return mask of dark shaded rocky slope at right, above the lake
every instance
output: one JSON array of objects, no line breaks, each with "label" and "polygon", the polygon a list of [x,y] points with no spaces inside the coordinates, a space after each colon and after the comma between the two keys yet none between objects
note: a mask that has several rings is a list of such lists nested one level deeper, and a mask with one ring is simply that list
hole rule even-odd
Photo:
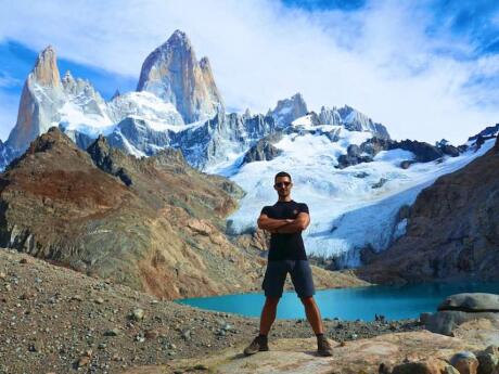
[{"label": "dark shaded rocky slope at right, above the lake", "polygon": [[359,274],[374,282],[477,276],[497,280],[499,140],[464,168],[423,190],[407,233]]}]

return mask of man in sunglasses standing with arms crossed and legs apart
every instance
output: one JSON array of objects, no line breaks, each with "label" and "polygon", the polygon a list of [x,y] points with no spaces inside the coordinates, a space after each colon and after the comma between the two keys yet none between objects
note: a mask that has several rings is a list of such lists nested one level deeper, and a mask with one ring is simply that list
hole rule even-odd
[{"label": "man in sunglasses standing with arms crossed and legs apart", "polygon": [[317,336],[318,354],[332,354],[332,347],[324,336],[319,308],[314,300],[314,280],[302,238],[302,231],[310,223],[308,207],[291,198],[292,186],[291,176],[285,171],[278,172],[273,188],[279,199],[274,205],[264,207],[258,218],[258,228],[271,233],[263,283],[266,301],[261,310],[259,335],[244,349],[246,356],[269,350],[267,335],[276,320],[287,273],[291,274],[295,291],[305,307],[307,320]]}]

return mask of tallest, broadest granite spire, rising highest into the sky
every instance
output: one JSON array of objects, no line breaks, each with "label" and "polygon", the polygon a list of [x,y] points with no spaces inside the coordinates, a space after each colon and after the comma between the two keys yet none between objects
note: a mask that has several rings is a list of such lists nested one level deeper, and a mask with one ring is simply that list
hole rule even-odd
[{"label": "tallest, broadest granite spire, rising highest into the sky", "polygon": [[185,124],[213,118],[223,109],[208,59],[197,62],[191,41],[180,30],[145,59],[137,91],[172,103]]}]

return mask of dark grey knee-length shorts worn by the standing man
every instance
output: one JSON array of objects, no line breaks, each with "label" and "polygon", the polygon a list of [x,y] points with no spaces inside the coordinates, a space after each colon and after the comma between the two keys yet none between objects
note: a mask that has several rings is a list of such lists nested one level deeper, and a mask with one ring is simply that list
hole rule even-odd
[{"label": "dark grey knee-length shorts worn by the standing man", "polygon": [[308,260],[269,261],[261,288],[265,296],[281,297],[287,273],[298,297],[310,297],[316,293]]}]

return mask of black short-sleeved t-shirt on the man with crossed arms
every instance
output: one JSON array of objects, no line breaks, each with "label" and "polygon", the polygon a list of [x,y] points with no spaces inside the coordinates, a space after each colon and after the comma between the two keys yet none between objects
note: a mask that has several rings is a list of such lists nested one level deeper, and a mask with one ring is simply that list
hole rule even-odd
[{"label": "black short-sleeved t-shirt on the man with crossed arms", "polygon": [[[291,202],[277,202],[272,206],[265,206],[263,215],[274,219],[295,219],[299,212],[308,214],[307,204]],[[292,234],[271,234],[269,261],[279,260],[306,260],[302,232]]]}]

